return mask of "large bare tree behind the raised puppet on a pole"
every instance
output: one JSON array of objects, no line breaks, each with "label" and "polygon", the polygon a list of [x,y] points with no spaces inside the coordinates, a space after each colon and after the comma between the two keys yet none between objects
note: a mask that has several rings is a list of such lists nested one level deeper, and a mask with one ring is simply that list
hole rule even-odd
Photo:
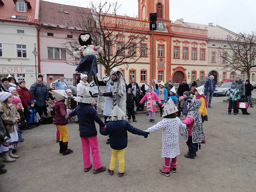
[{"label": "large bare tree behind the raised puppet on a pole", "polygon": [[[81,30],[72,30],[71,34],[77,37],[81,32],[90,33],[92,44],[100,45],[103,51],[97,56],[98,64],[102,64],[109,75],[112,68],[124,65],[126,69],[129,64],[144,61],[150,54],[148,30],[149,24],[144,21],[136,21],[124,16],[116,15],[120,5],[116,3],[93,4],[91,11],[86,14],[83,9],[78,8],[77,14],[80,15],[79,24]],[[109,13],[112,11],[111,13]],[[80,44],[76,40],[66,39],[62,44],[67,49],[69,58],[73,57]],[[77,65],[79,61],[68,63]]]}]

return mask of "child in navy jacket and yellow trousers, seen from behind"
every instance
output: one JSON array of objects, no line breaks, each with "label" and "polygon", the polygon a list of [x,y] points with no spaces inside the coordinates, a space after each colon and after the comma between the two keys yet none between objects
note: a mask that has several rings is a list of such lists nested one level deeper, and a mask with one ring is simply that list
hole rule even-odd
[{"label": "child in navy jacket and yellow trousers, seen from behind", "polygon": [[147,138],[149,134],[148,132],[133,127],[124,120],[125,118],[127,118],[126,114],[124,114],[124,112],[118,106],[116,106],[111,112],[111,116],[108,116],[107,121],[109,122],[107,127],[104,127],[105,129],[100,127],[100,134],[106,136],[109,135],[109,144],[112,152],[108,174],[114,174],[114,170],[116,168],[116,157],[118,156],[119,177],[124,176],[124,153],[128,143],[127,131],[133,134],[143,135],[145,138]]}]

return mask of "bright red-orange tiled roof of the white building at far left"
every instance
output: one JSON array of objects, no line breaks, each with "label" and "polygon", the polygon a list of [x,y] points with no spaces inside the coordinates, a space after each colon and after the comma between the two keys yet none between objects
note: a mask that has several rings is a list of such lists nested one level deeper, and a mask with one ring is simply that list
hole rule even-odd
[{"label": "bright red-orange tiled roof of the white building at far left", "polygon": [[[17,12],[16,11],[16,5],[13,2],[13,0],[2,0],[4,5],[0,6],[0,20],[10,20],[10,21],[17,21],[17,22],[26,22],[26,23],[35,23],[37,20],[35,20],[35,13],[36,13],[36,1],[39,2],[39,0],[26,0],[26,2],[29,2],[29,5],[31,6],[31,9],[28,9],[27,12]],[[28,5],[28,7],[29,7]],[[18,15],[18,16],[25,16],[27,19],[14,19],[11,18],[12,15]]]}]

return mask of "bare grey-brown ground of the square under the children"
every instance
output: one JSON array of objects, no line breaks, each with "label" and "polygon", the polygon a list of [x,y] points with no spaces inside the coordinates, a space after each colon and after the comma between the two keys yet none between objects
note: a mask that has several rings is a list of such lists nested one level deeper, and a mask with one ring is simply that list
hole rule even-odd
[{"label": "bare grey-brown ground of the square under the children", "polygon": [[[7,173],[0,175],[0,191],[255,191],[256,108],[249,108],[249,116],[241,111],[234,116],[227,115],[228,103],[218,102],[212,107],[208,108],[209,122],[204,123],[206,143],[196,159],[187,159],[186,143],[179,137],[177,172],[169,177],[158,173],[164,163],[161,131],[147,139],[128,133],[125,174],[119,178],[118,169],[113,176],[83,171],[78,124],[68,124],[68,147],[74,153],[60,155],[56,127],[50,124],[23,132],[25,141],[17,152],[20,158],[5,163]],[[136,119],[138,122],[132,125],[139,129],[153,125],[145,114],[137,114]],[[157,114],[156,123],[161,119]],[[98,140],[102,164],[108,167],[111,150],[106,145],[107,137],[99,133]]]}]

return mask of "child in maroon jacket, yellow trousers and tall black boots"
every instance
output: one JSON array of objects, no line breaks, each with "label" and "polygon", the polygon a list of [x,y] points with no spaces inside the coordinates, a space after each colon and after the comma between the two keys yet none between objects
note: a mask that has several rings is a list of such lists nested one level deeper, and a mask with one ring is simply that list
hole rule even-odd
[{"label": "child in maroon jacket, yellow trousers and tall black boots", "polygon": [[64,90],[52,90],[57,102],[55,104],[54,124],[60,131],[60,153],[68,155],[73,153],[73,150],[68,149],[68,115],[65,104],[67,94]]}]

